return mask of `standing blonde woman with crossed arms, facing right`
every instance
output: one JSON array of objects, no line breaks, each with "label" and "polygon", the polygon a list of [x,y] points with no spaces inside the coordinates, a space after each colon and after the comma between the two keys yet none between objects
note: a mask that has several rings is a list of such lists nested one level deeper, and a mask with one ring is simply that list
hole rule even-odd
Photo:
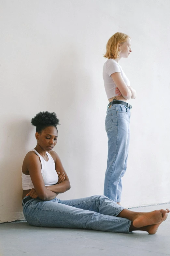
[{"label": "standing blonde woman with crossed arms, facing right", "polygon": [[103,67],[103,79],[109,101],[106,115],[106,132],[108,137],[108,158],[105,174],[104,195],[120,204],[122,177],[127,168],[130,140],[129,99],[135,99],[136,91],[123,72],[119,61],[128,58],[131,39],[128,35],[117,32],[107,42]]}]

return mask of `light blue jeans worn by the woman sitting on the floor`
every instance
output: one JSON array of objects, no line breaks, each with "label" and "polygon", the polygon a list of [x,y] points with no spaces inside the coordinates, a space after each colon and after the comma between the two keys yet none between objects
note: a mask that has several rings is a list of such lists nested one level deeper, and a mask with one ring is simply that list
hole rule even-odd
[{"label": "light blue jeans worn by the woman sitting on the floor", "polygon": [[24,217],[33,226],[129,233],[131,221],[116,217],[123,209],[106,196],[50,201],[32,198],[23,205]]}]

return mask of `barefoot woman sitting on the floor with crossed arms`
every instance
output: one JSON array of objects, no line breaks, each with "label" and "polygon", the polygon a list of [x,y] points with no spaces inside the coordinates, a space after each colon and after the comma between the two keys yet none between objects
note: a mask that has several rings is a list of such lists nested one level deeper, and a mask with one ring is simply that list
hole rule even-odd
[{"label": "barefoot woman sitting on the floor with crossed arms", "polygon": [[31,121],[36,126],[37,145],[22,165],[22,205],[26,221],[38,227],[82,228],[155,234],[169,210],[133,212],[106,196],[60,200],[70,189],[68,176],[53,147],[57,143],[59,120],[55,113],[39,112]]}]

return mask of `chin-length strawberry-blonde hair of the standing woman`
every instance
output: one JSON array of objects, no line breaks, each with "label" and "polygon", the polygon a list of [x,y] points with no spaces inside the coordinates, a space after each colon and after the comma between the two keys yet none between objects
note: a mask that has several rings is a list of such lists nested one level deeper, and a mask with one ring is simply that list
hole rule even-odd
[{"label": "chin-length strawberry-blonde hair of the standing woman", "polygon": [[119,44],[125,43],[127,39],[130,38],[128,35],[117,32],[108,40],[106,44],[106,54],[104,55],[105,58],[108,59],[117,59],[119,58]]}]

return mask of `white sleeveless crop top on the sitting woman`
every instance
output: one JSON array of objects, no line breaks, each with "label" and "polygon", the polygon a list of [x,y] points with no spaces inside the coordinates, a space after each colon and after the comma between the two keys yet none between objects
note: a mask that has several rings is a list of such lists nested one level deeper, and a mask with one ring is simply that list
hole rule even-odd
[{"label": "white sleeveless crop top on the sitting woman", "polygon": [[[45,161],[44,158],[35,150],[32,149],[40,158],[41,161],[41,173],[44,179],[45,186],[54,185],[58,181],[58,174],[55,170],[55,162],[51,155],[47,152],[49,158],[48,161]],[[32,183],[30,175],[26,175],[22,172],[22,189],[32,189],[34,185]]]}]

